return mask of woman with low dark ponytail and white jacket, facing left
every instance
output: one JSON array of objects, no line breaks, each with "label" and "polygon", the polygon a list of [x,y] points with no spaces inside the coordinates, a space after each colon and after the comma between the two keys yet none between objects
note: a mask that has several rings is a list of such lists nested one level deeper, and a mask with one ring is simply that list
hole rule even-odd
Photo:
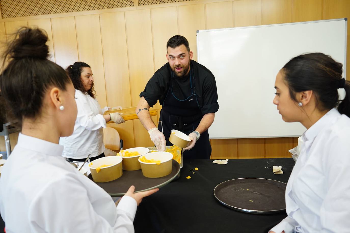
[{"label": "woman with low dark ponytail and white jacket, facing left", "polygon": [[[276,76],[273,103],[307,129],[286,188],[288,217],[270,231],[349,232],[350,83],[323,53],[291,59]],[[345,90],[339,100],[338,89]]]}]

